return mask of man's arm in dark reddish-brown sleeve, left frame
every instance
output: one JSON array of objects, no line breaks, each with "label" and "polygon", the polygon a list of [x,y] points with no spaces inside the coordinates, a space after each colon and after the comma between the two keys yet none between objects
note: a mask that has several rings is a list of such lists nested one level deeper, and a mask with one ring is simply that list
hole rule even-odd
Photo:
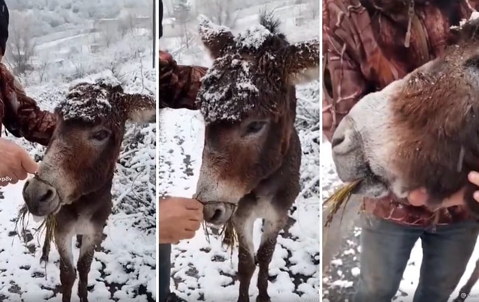
[{"label": "man's arm in dark reddish-brown sleeve, left frame", "polygon": [[16,137],[47,146],[56,124],[53,113],[40,110],[36,101],[25,95],[21,84],[3,64],[0,64],[0,79],[5,128]]}]

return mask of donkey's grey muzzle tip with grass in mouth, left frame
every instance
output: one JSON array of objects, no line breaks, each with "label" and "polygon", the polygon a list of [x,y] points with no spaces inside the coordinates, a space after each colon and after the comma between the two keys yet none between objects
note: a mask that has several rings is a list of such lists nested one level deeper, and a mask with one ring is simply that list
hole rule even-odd
[{"label": "donkey's grey muzzle tip with grass in mouth, left frame", "polygon": [[47,216],[60,206],[57,190],[37,177],[25,182],[22,194],[29,212],[34,216]]}]

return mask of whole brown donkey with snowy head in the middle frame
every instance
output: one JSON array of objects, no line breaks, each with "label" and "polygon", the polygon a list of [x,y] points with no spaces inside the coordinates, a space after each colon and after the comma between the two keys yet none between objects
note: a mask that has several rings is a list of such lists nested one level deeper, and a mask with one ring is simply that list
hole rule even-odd
[{"label": "whole brown donkey with snowy head in the middle frame", "polygon": [[[271,14],[261,14],[260,23],[237,36],[205,16],[199,24],[214,60],[196,99],[205,142],[195,197],[204,204],[207,223],[223,225],[232,218],[239,242],[239,302],[249,301],[255,263],[256,301],[270,301],[268,266],[300,189],[294,86],[320,75],[318,40],[290,44]],[[263,235],[255,257],[257,218],[263,218]]]}]

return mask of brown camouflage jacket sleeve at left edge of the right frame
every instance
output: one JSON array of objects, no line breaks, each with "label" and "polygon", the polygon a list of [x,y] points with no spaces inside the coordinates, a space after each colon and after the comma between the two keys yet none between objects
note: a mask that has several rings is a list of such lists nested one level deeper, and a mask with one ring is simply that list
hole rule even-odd
[{"label": "brown camouflage jacket sleeve at left edge of the right frame", "polygon": [[322,129],[330,141],[341,118],[367,93],[367,83],[361,68],[352,58],[354,51],[360,51],[361,47],[358,45],[358,32],[354,30],[354,22],[348,19],[348,8],[342,8],[335,2],[337,1],[323,1],[322,28]]}]

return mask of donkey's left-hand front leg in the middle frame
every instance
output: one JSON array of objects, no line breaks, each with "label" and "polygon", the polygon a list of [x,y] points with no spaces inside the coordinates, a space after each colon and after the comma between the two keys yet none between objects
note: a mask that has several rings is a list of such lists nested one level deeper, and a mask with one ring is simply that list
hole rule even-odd
[{"label": "donkey's left-hand front leg in the middle frame", "polygon": [[253,223],[250,217],[235,215],[233,224],[238,238],[238,279],[239,297],[238,302],[249,302],[249,288],[251,277],[255,273],[255,248],[253,246]]}]

